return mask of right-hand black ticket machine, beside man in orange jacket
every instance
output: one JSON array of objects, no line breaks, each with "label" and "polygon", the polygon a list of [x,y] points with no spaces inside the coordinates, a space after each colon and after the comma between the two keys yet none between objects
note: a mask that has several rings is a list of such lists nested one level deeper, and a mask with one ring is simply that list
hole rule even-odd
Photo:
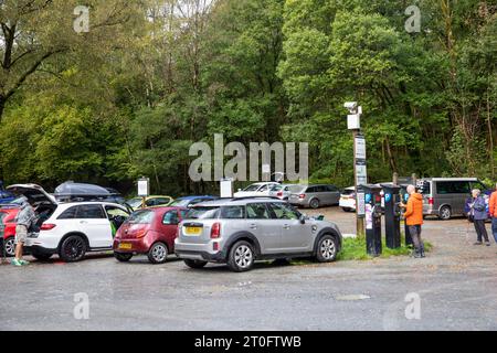
[{"label": "right-hand black ticket machine, beside man in orange jacket", "polygon": [[400,190],[399,185],[381,184],[384,195],[384,234],[387,239],[387,247],[391,249],[399,248],[401,246],[400,236]]}]

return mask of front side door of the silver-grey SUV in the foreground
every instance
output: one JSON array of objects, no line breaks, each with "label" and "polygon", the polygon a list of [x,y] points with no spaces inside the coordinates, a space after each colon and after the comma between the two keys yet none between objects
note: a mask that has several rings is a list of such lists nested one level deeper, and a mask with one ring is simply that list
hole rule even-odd
[{"label": "front side door of the silver-grey SUV in the foreground", "polygon": [[273,202],[269,207],[273,221],[282,234],[278,253],[304,253],[310,249],[310,224],[302,224],[300,213],[282,202]]}]

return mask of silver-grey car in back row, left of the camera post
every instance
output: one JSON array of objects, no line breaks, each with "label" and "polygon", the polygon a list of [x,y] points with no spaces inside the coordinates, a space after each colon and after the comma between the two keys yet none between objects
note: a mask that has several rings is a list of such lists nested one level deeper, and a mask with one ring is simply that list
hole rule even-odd
[{"label": "silver-grey car in back row, left of the camera post", "polygon": [[340,191],[335,185],[313,184],[292,186],[288,202],[299,207],[318,208],[325,205],[337,205]]}]

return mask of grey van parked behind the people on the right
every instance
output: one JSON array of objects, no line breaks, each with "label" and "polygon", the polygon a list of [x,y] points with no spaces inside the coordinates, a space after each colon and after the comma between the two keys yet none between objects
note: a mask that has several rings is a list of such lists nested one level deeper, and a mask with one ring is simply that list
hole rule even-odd
[{"label": "grey van parked behind the people on the right", "polygon": [[417,181],[423,195],[423,214],[450,220],[454,215],[465,215],[466,200],[473,189],[488,195],[491,190],[477,178],[426,178]]}]

